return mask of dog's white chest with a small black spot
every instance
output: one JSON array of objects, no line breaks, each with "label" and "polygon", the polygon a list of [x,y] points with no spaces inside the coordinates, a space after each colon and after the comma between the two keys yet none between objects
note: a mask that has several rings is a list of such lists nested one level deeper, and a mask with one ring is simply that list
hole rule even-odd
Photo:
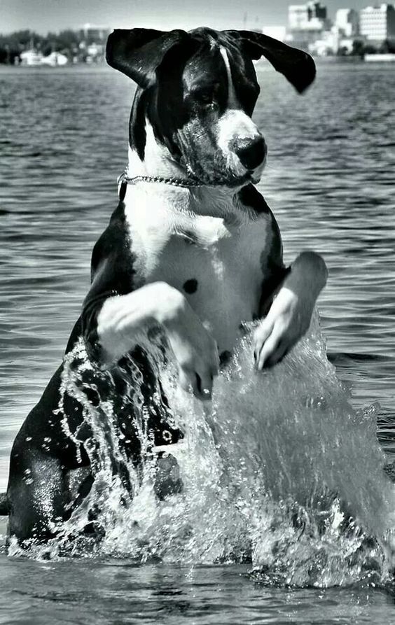
[{"label": "dog's white chest with a small black spot", "polygon": [[241,321],[258,313],[265,219],[226,225],[221,218],[184,217],[132,223],[131,234],[141,278],[180,290],[220,351],[233,349]]}]

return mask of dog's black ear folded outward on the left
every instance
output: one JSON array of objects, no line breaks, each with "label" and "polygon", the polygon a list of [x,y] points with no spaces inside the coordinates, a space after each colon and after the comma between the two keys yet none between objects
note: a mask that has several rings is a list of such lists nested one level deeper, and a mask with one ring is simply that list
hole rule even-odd
[{"label": "dog's black ear folded outward on the left", "polygon": [[107,39],[106,61],[140,87],[148,87],[166,52],[186,36],[183,30],[116,29]]}]

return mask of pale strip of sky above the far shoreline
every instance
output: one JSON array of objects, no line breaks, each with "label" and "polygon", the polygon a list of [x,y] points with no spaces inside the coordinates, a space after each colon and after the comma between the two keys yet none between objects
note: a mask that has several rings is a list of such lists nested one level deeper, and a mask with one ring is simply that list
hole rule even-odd
[{"label": "pale strip of sky above the far shoreline", "polygon": [[[85,23],[109,28],[161,30],[198,26],[263,28],[286,25],[289,4],[303,0],[0,0],[0,33],[31,29],[41,34]],[[363,8],[371,0],[328,0],[329,17],[338,8]],[[377,2],[376,2],[377,3]]]}]

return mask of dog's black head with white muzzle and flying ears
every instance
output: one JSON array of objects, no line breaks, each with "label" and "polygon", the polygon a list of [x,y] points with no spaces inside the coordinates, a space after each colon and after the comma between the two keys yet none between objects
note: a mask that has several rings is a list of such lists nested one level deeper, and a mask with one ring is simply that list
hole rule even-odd
[{"label": "dog's black head with white muzzle and flying ears", "polygon": [[259,94],[252,61],[261,56],[298,92],[314,80],[310,55],[255,32],[113,31],[107,62],[139,85],[130,144],[140,160],[148,123],[169,157],[203,183],[258,181],[266,146],[251,120]]}]

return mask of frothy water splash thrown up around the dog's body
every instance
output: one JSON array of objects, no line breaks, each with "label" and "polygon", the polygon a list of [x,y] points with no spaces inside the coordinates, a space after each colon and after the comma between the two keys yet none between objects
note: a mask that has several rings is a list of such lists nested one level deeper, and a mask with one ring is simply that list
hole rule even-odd
[{"label": "frothy water splash thrown up around the dog's body", "polygon": [[[58,526],[57,538],[32,547],[35,557],[118,555],[190,566],[251,559],[255,579],[298,586],[387,579],[395,491],[384,475],[377,410],[354,412],[349,405],[317,318],[289,356],[265,372],[254,371],[247,332],[207,404],[179,389],[171,363],[162,367],[174,423],[184,433],[166,447],[183,491],[162,501],[155,496],[153,437],[138,367],[129,392],[144,457],[139,468],[120,448],[111,402],[92,405],[79,384],[89,367],[79,343],[67,357],[63,384],[92,428],[85,449],[95,482]],[[111,386],[111,375],[103,376]],[[78,433],[70,435],[78,442]],[[101,540],[85,534],[92,510]]]}]

